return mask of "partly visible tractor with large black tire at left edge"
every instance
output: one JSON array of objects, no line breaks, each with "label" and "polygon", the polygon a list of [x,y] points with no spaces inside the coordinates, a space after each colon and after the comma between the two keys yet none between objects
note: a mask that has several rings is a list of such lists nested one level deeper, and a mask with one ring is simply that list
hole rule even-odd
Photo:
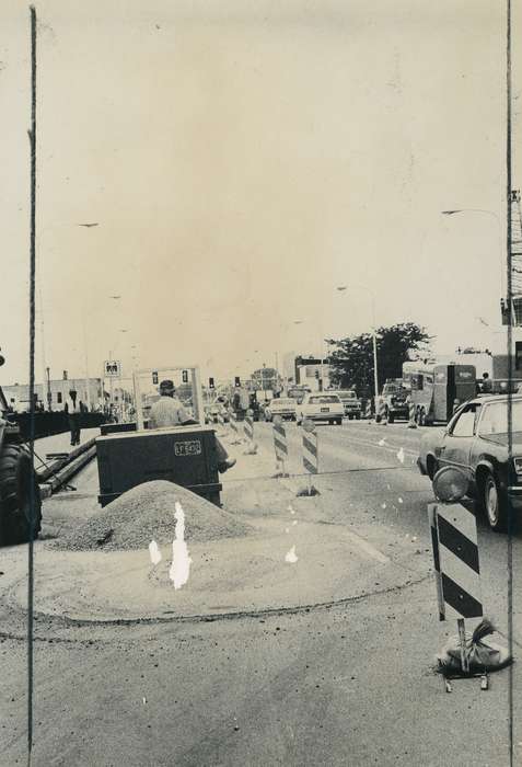
[{"label": "partly visible tractor with large black tire at left edge", "polygon": [[10,415],[0,387],[0,546],[36,538],[42,528],[38,480],[20,428]]}]

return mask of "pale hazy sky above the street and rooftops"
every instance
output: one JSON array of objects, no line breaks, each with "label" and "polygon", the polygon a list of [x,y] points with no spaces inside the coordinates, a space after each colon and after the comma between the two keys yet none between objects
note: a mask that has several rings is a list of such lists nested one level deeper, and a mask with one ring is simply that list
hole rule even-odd
[{"label": "pale hazy sky above the street and rooftops", "polygon": [[[98,376],[111,356],[246,375],[369,331],[373,309],[376,325],[425,325],[440,353],[488,345],[506,262],[502,2],[36,11],[37,379]],[[8,384],[28,378],[28,7],[3,0],[0,21]],[[520,186],[519,169],[515,152]]]}]

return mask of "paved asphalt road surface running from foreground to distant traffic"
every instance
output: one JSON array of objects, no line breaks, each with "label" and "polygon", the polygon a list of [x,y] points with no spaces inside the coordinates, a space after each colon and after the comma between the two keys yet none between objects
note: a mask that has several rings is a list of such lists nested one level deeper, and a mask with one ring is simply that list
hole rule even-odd
[{"label": "paved asphalt road surface running from foreground to distant traffic", "polygon": [[[437,618],[427,525],[433,496],[415,466],[419,435],[404,424],[318,427],[321,495],[295,501],[295,508],[309,523],[349,527],[368,556],[371,582],[362,596],[302,610],[129,626],[37,616],[33,765],[503,766],[511,714],[520,764],[517,665],[492,676],[488,691],[461,680],[451,695],[432,672],[433,655],[455,627]],[[289,424],[288,437],[287,469],[295,476],[279,481],[272,505],[277,493],[293,497],[305,484],[301,431]],[[258,455],[242,457],[224,481],[225,504],[243,504],[247,513],[274,471],[268,424],[256,424],[256,439]],[[234,449],[241,455],[241,446]],[[94,468],[76,484],[89,501]],[[55,504],[62,519],[80,505],[83,514],[89,508],[78,500]],[[507,539],[479,522],[479,549],[485,610],[506,632]],[[379,564],[382,580],[371,569],[378,554],[390,562]],[[518,534],[515,655],[520,557]],[[383,589],[392,564],[408,579]],[[305,584],[306,562],[294,566],[301,565]],[[350,562],[337,566],[341,572]],[[0,764],[11,766],[26,753],[23,610],[3,606],[1,623]]]}]

